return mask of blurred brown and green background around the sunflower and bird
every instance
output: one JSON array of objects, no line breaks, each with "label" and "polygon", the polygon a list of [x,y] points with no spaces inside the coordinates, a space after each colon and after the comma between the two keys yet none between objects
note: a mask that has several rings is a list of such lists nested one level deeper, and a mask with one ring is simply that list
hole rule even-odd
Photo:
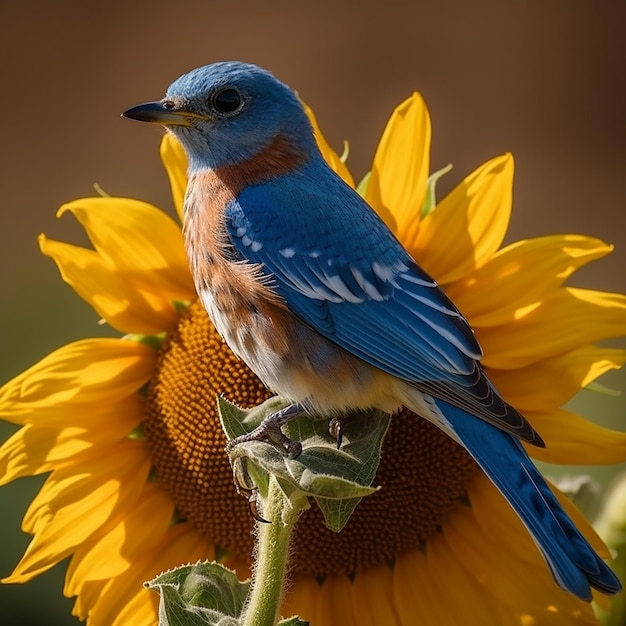
[{"label": "blurred brown and green background around the sunflower and bird", "polygon": [[[106,333],[42,257],[37,234],[86,243],[55,211],[94,183],[170,208],[161,131],[120,118],[181,73],[239,59],[271,69],[314,107],[331,143],[368,169],[392,108],[413,90],[433,119],[443,189],[504,151],[516,159],[508,241],[586,233],[615,252],[573,281],[626,291],[626,11],[623,2],[20,2],[3,7],[0,381],[66,343]],[[626,375],[604,379],[626,387]],[[624,400],[576,408],[619,421]],[[622,422],[623,424],[623,422]],[[11,428],[0,430],[6,436]],[[40,480],[0,490],[0,575]],[[0,588],[2,623],[72,624],[62,568]],[[5,621],[8,619],[8,621]]]}]

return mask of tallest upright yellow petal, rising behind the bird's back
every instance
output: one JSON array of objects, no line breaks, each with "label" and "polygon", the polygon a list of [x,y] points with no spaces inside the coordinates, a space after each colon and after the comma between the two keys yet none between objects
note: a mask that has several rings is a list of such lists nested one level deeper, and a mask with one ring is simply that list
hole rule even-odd
[{"label": "tallest upright yellow petal, rising behind the bird's back", "polygon": [[396,107],[374,155],[365,199],[407,246],[417,233],[430,167],[430,115],[414,93]]}]

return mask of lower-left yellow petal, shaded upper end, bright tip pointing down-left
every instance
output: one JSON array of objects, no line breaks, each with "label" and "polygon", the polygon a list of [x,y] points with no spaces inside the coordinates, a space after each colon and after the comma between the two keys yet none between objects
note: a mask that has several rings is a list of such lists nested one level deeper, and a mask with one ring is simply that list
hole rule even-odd
[{"label": "lower-left yellow petal, shaded upper end, bright tip pointing down-left", "polygon": [[170,528],[174,501],[148,483],[135,506],[93,543],[78,546],[67,569],[64,593],[80,593],[87,581],[119,576],[146,554],[154,554]]}]

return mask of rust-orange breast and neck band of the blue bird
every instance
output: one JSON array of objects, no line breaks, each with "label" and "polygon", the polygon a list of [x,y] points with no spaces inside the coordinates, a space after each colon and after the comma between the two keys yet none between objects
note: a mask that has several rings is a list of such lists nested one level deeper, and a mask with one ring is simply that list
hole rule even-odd
[{"label": "rust-orange breast and neck band of the blue bird", "polygon": [[[248,328],[234,333],[241,341],[271,341],[280,352],[288,348],[291,315],[254,263],[235,260],[225,223],[225,211],[247,186],[286,174],[306,156],[284,137],[254,158],[236,165],[194,174],[185,198],[184,235],[196,289],[218,330]],[[219,318],[219,319],[216,319]],[[221,328],[220,328],[221,326]],[[231,346],[233,347],[233,346]]]}]

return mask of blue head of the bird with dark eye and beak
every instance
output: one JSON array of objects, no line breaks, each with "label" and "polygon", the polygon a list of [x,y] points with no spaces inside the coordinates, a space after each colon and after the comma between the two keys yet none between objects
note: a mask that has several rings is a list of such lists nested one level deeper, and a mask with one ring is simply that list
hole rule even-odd
[{"label": "blue head of the bird with dark eye and beak", "polygon": [[192,70],[162,100],[123,115],[166,126],[183,144],[191,172],[250,159],[279,136],[305,155],[316,150],[293,91],[268,71],[235,61]]}]

